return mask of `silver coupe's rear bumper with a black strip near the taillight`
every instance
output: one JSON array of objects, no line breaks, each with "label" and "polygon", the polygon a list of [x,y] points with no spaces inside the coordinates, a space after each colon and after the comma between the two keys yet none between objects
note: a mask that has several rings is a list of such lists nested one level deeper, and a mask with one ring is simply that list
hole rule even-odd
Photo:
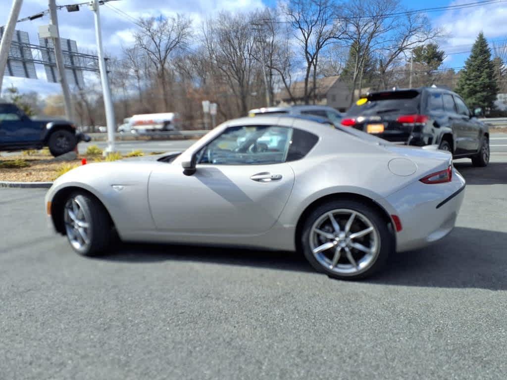
[{"label": "silver coupe's rear bumper with a black strip near the taillight", "polygon": [[403,226],[396,234],[396,250],[422,248],[448,235],[456,223],[464,188],[464,178],[453,168],[451,182],[416,181],[387,197]]}]

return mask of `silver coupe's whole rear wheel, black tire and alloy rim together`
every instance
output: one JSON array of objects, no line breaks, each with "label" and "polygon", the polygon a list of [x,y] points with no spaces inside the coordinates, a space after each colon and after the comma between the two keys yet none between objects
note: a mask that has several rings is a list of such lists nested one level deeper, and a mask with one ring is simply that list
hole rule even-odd
[{"label": "silver coupe's whole rear wheel, black tire and alloy rim together", "polygon": [[342,280],[372,275],[393,250],[393,237],[378,211],[353,200],[317,207],[303,227],[303,251],[319,272]]}]

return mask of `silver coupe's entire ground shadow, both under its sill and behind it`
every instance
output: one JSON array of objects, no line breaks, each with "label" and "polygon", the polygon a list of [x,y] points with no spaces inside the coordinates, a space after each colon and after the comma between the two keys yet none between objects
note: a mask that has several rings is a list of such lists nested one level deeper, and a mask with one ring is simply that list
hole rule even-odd
[{"label": "silver coupe's entire ground shadow, both under its sill and behind it", "polygon": [[[193,261],[313,272],[303,255],[182,245],[125,244],[102,257],[123,262]],[[372,284],[507,290],[507,233],[456,227],[427,248],[394,253]]]}]

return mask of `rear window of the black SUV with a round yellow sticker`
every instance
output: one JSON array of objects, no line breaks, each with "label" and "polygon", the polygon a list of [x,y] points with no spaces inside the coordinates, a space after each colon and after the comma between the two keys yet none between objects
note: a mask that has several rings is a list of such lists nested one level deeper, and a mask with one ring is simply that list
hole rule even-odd
[{"label": "rear window of the black SUV with a round yellow sticker", "polygon": [[366,101],[358,101],[347,116],[374,116],[388,113],[419,113],[420,93],[415,90],[386,91],[368,95]]}]

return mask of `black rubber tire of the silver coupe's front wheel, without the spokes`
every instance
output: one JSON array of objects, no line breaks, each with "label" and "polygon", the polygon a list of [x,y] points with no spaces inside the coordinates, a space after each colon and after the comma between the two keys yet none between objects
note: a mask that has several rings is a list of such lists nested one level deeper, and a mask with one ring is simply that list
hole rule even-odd
[{"label": "black rubber tire of the silver coupe's front wheel, without the spokes", "polygon": [[[89,243],[83,244],[81,247],[76,245],[76,240],[73,241],[73,234],[78,235],[71,225],[67,223],[70,220],[65,213],[67,212],[67,205],[69,202],[75,200],[80,208],[83,210],[83,216],[88,227],[85,229]],[[71,194],[64,203],[61,210],[63,213],[63,220],[65,225],[65,232],[70,246],[82,256],[99,256],[107,253],[112,243],[116,242],[116,234],[113,229],[111,219],[105,210],[104,206],[93,196],[84,192],[76,192]],[[78,213],[79,214],[79,213]],[[83,239],[81,239],[83,240]]]}]

